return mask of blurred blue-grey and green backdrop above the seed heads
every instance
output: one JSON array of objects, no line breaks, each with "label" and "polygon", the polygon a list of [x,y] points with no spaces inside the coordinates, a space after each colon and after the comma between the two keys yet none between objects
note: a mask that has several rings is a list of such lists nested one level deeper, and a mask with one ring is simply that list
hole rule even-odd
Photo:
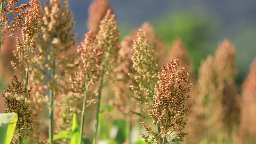
[{"label": "blurred blue-grey and green backdrop above the seed heads", "polygon": [[[88,13],[85,9],[91,1],[73,0],[69,3],[79,41],[87,31]],[[166,45],[171,45],[174,38],[182,39],[195,69],[207,54],[213,54],[218,43],[229,39],[236,47],[237,84],[242,83],[256,55],[256,1],[110,0],[109,3],[116,14],[122,37],[149,21]]]}]

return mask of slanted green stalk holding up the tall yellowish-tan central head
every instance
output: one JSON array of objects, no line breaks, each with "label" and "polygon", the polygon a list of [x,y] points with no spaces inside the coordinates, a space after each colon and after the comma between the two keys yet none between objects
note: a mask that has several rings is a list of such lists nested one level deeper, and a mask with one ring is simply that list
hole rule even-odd
[{"label": "slanted green stalk holding up the tall yellowish-tan central head", "polygon": [[102,90],[102,86],[103,86],[104,74],[105,74],[105,67],[103,66],[102,75],[101,75],[101,78],[100,78],[100,90],[99,90],[99,94],[98,94],[98,105],[97,105],[97,111],[96,111],[96,117],[95,117],[96,124],[95,124],[95,132],[94,132],[94,137],[93,137],[93,143],[94,144],[97,144],[98,127],[99,127],[100,100],[101,100],[101,90]]}]

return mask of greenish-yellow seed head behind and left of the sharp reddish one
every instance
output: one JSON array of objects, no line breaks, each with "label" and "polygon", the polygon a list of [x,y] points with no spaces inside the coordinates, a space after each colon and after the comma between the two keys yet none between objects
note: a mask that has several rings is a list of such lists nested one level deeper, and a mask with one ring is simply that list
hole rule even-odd
[{"label": "greenish-yellow seed head behind and left of the sharp reddish one", "polygon": [[141,29],[138,31],[137,39],[133,41],[132,62],[134,74],[129,74],[135,85],[131,85],[134,94],[140,103],[147,105],[155,93],[155,84],[158,80],[158,58],[153,47],[146,38],[146,33]]}]

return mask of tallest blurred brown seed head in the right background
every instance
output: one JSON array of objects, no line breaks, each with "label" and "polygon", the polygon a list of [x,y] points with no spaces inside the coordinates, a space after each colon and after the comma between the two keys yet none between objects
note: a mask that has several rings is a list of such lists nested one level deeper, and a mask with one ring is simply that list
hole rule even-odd
[{"label": "tallest blurred brown seed head in the right background", "polygon": [[[219,92],[216,97],[220,99],[222,113],[221,115],[213,113],[213,115],[215,117],[221,116],[221,127],[225,127],[229,132],[238,126],[240,105],[239,95],[235,84],[237,75],[235,67],[235,47],[227,39],[219,45],[215,53],[214,65],[217,92]],[[219,105],[214,107],[215,111],[217,110],[216,108],[220,108]]]}]

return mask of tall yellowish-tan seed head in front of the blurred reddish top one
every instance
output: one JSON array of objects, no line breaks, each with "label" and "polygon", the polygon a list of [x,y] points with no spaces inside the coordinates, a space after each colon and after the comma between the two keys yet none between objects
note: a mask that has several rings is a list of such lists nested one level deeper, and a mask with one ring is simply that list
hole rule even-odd
[{"label": "tall yellowish-tan seed head in front of the blurred reddish top one", "polygon": [[[96,38],[98,46],[105,49],[105,56],[102,61],[105,71],[115,68],[119,63],[118,51],[120,49],[120,35],[117,28],[115,15],[111,14],[110,10],[107,11],[105,17],[100,21],[100,29]],[[103,73],[105,71],[103,71]]]}]

